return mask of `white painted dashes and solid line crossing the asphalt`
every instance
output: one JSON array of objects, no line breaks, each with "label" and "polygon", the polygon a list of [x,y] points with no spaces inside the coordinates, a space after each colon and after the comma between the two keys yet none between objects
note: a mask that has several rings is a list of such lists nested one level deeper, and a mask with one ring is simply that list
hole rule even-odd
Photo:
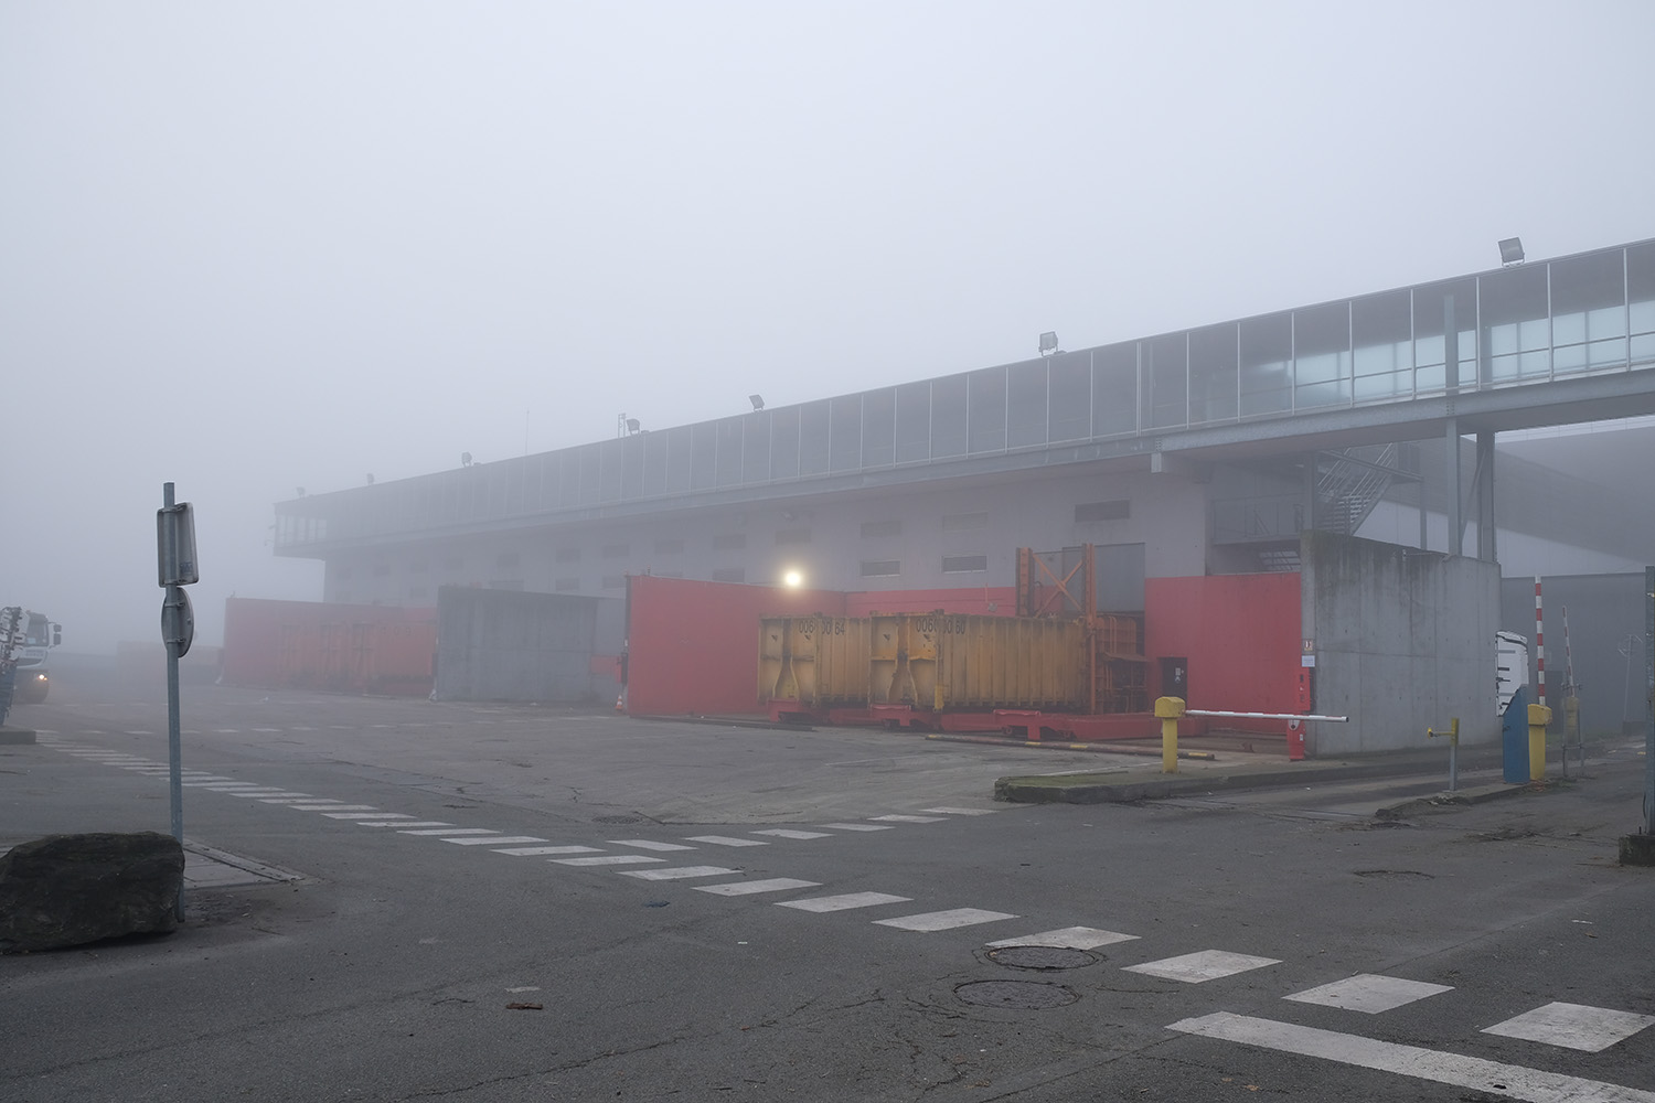
[{"label": "white painted dashes and solid line crossing the asphalt", "polygon": [[[139,756],[103,751],[58,739],[43,738],[41,742],[83,761],[127,769],[136,774],[157,779],[167,777],[164,764],[142,759]],[[257,782],[237,781],[217,774],[194,772],[185,777],[185,785],[202,792],[222,792],[301,812],[316,812],[323,819],[338,822],[341,828],[364,827],[387,830],[389,833],[414,838],[435,838],[478,853],[496,853],[511,858],[540,858],[569,870],[589,870],[592,875],[619,875],[645,883],[660,885],[685,881],[685,888],[708,896],[722,896],[727,900],[751,896],[755,900],[768,900],[768,903],[776,908],[786,908],[796,913],[819,916],[837,913],[872,913],[872,918],[866,918],[864,921],[872,926],[900,931],[904,936],[942,934],[948,931],[1011,924],[1019,918],[1018,914],[1008,911],[973,906],[912,911],[909,908],[902,908],[904,905],[912,906],[915,903],[912,896],[875,890],[799,895],[809,893],[809,890],[819,890],[823,888],[823,883],[793,876],[748,876],[746,871],[738,867],[697,862],[697,855],[707,853],[713,848],[730,853],[756,847],[771,847],[775,843],[791,843],[791,847],[786,847],[791,855],[798,853],[794,847],[808,848],[809,845],[821,843],[821,840],[846,838],[867,832],[897,830],[904,827],[923,830],[930,824],[957,820],[960,817],[990,815],[1000,810],[993,807],[932,807],[919,809],[917,812],[889,812],[869,817],[867,820],[837,820],[803,827],[760,827],[741,830],[740,833],[702,833],[680,835],[675,838],[614,838],[604,842],[602,845],[588,845],[558,842],[536,835],[508,833],[488,827],[450,824],[445,820],[422,820],[405,812],[389,812],[366,804],[346,804],[343,800],[318,797],[314,794],[288,792],[280,787],[260,785]],[[788,898],[770,900],[771,896]],[[895,911],[895,914],[892,914],[892,911]],[[1003,929],[1005,926],[1001,926],[1001,931]],[[1134,933],[1096,926],[1064,926],[996,938],[983,943],[983,946],[986,949],[1026,946],[1094,951],[1104,946],[1163,946],[1163,939],[1165,936],[1144,939]],[[1132,964],[1120,964],[1114,967],[1119,967],[1124,972],[1134,972],[1172,984],[1213,984],[1215,987],[1221,987],[1221,982],[1230,977],[1241,974],[1263,974],[1261,971],[1283,964],[1283,961],[1276,957],[1240,953],[1236,949],[1183,949],[1185,953],[1170,956],[1145,953],[1140,954],[1145,957],[1144,961],[1134,961]],[[1281,996],[1281,999],[1291,1004],[1317,1005],[1359,1015],[1382,1015],[1451,991],[1453,986],[1448,984],[1437,984],[1403,976],[1360,972],[1337,977],[1307,989],[1288,992]],[[1546,1002],[1499,1022],[1475,1027],[1475,1030],[1486,1035],[1514,1039],[1546,1047],[1599,1053],[1625,1042],[1652,1025],[1655,1025],[1655,1015],[1648,1014],[1610,1007],[1592,1007],[1574,1002]],[[1183,1019],[1170,1024],[1168,1030],[1216,1040],[1240,1042],[1245,1045],[1278,1048],[1283,1052],[1326,1057],[1329,1060],[1346,1060],[1347,1063],[1365,1063],[1365,1067],[1370,1068],[1389,1068],[1398,1072],[1400,1075],[1433,1078],[1443,1083],[1463,1083],[1480,1086],[1481,1090],[1488,1090],[1488,1085],[1491,1083],[1503,1083],[1498,1077],[1504,1077],[1504,1080],[1509,1082],[1551,1085],[1551,1080],[1547,1080],[1551,1073],[1536,1073],[1534,1070],[1496,1065],[1493,1062],[1481,1062],[1480,1058],[1440,1053],[1435,1050],[1415,1050],[1412,1047],[1374,1042],[1359,1035],[1299,1027],[1289,1022],[1274,1022],[1269,1019],[1235,1015],[1230,1012]],[[1488,1070],[1483,1068],[1485,1065],[1498,1070],[1498,1077],[1494,1080],[1490,1078],[1494,1073],[1488,1073]],[[1584,1090],[1595,1090],[1594,1082],[1582,1083],[1587,1086]],[[1614,1088],[1620,1095],[1610,1091],[1610,1095],[1604,1096],[1582,1095],[1579,1098],[1643,1100],[1647,1095],[1617,1088],[1615,1085],[1600,1086]],[[1562,1085],[1561,1090],[1576,1088]],[[1627,1091],[1632,1093],[1625,1095]],[[1574,1096],[1562,1095],[1557,1098]],[[1655,1095],[1648,1095],[1648,1103],[1655,1103]]]}]

